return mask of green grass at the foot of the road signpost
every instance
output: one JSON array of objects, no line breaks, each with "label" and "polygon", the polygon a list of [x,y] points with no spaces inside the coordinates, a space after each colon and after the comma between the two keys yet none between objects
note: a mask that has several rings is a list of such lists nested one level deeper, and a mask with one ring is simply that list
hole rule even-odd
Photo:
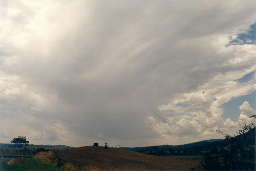
[{"label": "green grass at the foot of the road signpost", "polygon": [[1,171],[64,171],[57,167],[57,163],[49,162],[46,160],[37,159],[39,165],[35,164],[31,159],[25,159],[25,163],[22,163],[22,159],[15,159],[15,164],[7,165],[7,161],[0,163]]}]

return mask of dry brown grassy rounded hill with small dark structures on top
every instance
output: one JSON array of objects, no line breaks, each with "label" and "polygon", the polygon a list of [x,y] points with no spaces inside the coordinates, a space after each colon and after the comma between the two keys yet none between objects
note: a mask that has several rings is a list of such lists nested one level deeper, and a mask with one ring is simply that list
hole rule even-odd
[{"label": "dry brown grassy rounded hill with small dark structures on top", "polygon": [[138,152],[86,146],[57,152],[59,164],[81,170],[190,170],[199,165],[199,159],[173,159]]}]

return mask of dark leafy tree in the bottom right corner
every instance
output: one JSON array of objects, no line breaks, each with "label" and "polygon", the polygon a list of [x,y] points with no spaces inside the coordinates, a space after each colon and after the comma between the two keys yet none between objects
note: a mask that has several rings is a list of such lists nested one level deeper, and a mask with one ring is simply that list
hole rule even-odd
[{"label": "dark leafy tree in the bottom right corner", "polygon": [[[250,117],[256,118],[255,115]],[[217,129],[225,138],[225,147],[202,154],[204,170],[255,170],[255,126],[244,125],[233,136]]]}]

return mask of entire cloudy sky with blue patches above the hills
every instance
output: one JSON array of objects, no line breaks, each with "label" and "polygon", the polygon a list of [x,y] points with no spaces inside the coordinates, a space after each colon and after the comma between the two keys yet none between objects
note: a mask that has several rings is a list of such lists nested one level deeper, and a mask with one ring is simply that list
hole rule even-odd
[{"label": "entire cloudy sky with blue patches above the hills", "polygon": [[253,121],[256,1],[0,1],[0,143],[179,145]]}]

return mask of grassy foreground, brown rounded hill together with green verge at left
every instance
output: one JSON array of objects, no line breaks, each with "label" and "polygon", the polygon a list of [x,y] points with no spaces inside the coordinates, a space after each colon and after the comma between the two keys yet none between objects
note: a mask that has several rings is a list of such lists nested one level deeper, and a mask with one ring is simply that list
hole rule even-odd
[{"label": "grassy foreground, brown rounded hill together with green verge at left", "polygon": [[57,153],[39,152],[35,155],[39,166],[31,159],[15,159],[7,165],[1,162],[1,171],[80,171],[80,170],[190,170],[199,166],[200,156],[153,156],[118,148],[86,146]]}]

